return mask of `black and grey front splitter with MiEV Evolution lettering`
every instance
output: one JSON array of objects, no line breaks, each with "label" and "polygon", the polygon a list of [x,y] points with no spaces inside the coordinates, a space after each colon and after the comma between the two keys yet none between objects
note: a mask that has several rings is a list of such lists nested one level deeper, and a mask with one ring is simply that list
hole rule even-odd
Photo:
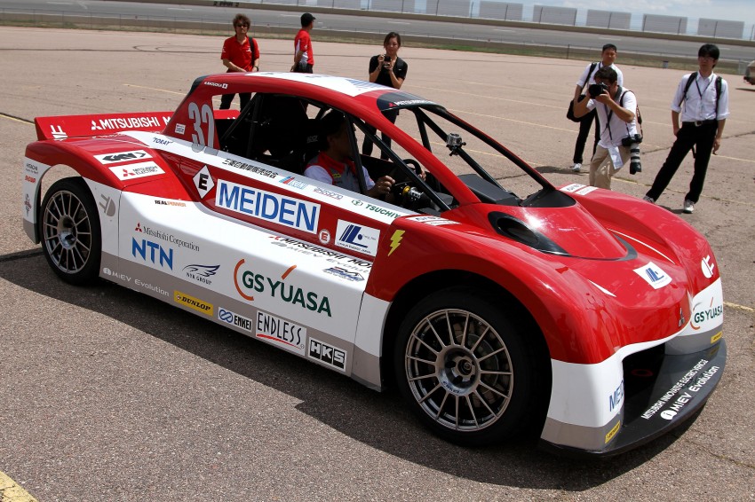
[{"label": "black and grey front splitter with MiEV Evolution lettering", "polygon": [[602,427],[546,420],[541,446],[574,456],[609,457],[664,435],[703,408],[726,365],[726,341],[692,353],[670,355],[664,345],[623,362],[623,406]]}]

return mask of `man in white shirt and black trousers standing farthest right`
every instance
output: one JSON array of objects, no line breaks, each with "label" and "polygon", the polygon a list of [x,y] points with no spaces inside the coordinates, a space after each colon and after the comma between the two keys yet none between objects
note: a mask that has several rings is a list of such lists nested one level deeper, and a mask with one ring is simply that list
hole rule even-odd
[{"label": "man in white shirt and black trousers standing farthest right", "polygon": [[672,128],[676,139],[653,186],[643,197],[650,203],[656,203],[690,150],[695,157],[695,174],[689,183],[689,192],[684,196],[682,210],[692,213],[700,200],[708,161],[711,153],[718,152],[721,146],[721,135],[728,117],[727,81],[713,73],[719,55],[716,45],[703,44],[697,51],[698,71],[681,77],[672,101]]}]

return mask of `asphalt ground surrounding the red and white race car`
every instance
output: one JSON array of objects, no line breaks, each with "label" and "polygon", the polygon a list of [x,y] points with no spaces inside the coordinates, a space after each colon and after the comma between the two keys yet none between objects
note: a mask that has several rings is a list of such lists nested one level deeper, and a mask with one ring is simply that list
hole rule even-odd
[{"label": "asphalt ground surrounding the red and white race car", "polygon": [[[287,70],[291,43],[260,40]],[[731,118],[695,214],[723,276],[728,361],[703,412],[604,461],[531,443],[463,449],[430,435],[392,392],[119,286],[57,279],[21,229],[21,161],[35,116],[172,110],[222,71],[221,37],[0,27],[0,471],[49,500],[755,499],[755,88],[730,84]],[[367,76],[379,47],[318,43],[320,73]],[[689,51],[697,47],[690,44]],[[404,89],[503,140],[554,184],[571,173],[564,118],[586,61],[404,47]],[[617,62],[621,66],[621,60]],[[683,72],[624,67],[645,119],[640,197],[672,144]],[[680,213],[687,159],[660,200]],[[505,183],[505,182],[504,182]]]}]

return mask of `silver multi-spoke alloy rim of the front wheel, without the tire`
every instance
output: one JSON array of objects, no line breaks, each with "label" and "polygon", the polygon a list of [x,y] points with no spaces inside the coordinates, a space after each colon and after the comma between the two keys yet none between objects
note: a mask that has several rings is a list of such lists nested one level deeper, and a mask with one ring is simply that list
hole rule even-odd
[{"label": "silver multi-spoke alloy rim of the front wheel, without the tire", "polygon": [[404,367],[417,404],[453,430],[491,426],[512,398],[513,364],[505,342],[468,310],[437,310],[417,323]]}]

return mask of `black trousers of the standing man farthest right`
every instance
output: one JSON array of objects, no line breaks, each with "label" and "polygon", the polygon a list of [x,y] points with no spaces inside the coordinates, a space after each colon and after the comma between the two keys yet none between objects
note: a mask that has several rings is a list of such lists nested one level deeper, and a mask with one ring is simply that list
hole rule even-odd
[{"label": "black trousers of the standing man farthest right", "polygon": [[684,198],[697,202],[700,199],[700,193],[703,192],[705,173],[708,171],[708,161],[711,160],[713,141],[716,139],[718,129],[718,121],[705,121],[701,125],[695,125],[695,122],[682,122],[676,141],[674,141],[664,165],[658,171],[653,186],[647,193],[648,197],[658,200],[661,193],[671,183],[681,161],[684,161],[687,153],[695,146],[695,174],[692,175],[689,192]]}]

